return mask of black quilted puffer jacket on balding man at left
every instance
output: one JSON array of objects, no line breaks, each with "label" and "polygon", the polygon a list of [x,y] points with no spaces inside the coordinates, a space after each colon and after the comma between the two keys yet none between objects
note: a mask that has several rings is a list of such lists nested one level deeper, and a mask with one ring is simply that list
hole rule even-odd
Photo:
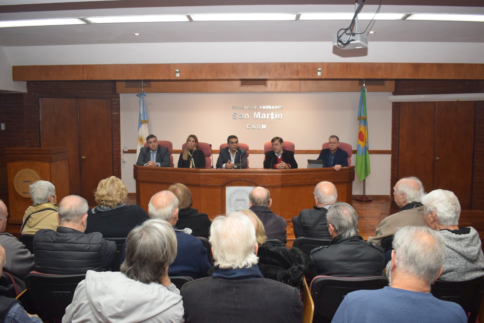
[{"label": "black quilted puffer jacket on balding man at left", "polygon": [[116,255],[116,243],[99,232],[58,227],[41,229],[33,237],[35,270],[45,274],[85,274],[106,271]]}]

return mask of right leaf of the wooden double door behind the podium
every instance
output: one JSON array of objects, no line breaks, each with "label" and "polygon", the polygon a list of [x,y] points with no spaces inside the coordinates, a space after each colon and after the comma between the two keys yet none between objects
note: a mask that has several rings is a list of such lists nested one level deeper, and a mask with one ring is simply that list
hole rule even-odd
[{"label": "right leaf of the wooden double door behind the podium", "polygon": [[111,100],[79,99],[79,111],[81,195],[93,205],[99,181],[114,173]]}]

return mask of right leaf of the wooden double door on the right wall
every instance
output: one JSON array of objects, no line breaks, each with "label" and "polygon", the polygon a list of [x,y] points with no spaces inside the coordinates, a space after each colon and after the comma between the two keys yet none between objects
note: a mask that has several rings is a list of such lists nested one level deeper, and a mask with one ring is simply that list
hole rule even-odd
[{"label": "right leaf of the wooden double door on the right wall", "polygon": [[473,101],[437,102],[434,189],[453,191],[462,209],[470,209],[474,157]]}]

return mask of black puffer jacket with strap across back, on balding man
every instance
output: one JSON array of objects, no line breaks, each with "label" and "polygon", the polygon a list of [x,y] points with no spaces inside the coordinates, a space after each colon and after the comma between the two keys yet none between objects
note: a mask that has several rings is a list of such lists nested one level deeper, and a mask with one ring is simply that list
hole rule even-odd
[{"label": "black puffer jacket with strap across back, on balding man", "polygon": [[[294,216],[292,218],[292,228],[294,230],[294,235],[297,237],[308,237],[308,238],[323,238],[331,239],[330,232],[328,231],[328,222],[326,221],[326,213],[328,210],[324,207],[313,206],[314,209],[304,209],[299,213],[299,216]],[[314,222],[323,215],[321,221],[318,222],[316,228],[314,228],[311,235],[309,231],[314,225]]]}]

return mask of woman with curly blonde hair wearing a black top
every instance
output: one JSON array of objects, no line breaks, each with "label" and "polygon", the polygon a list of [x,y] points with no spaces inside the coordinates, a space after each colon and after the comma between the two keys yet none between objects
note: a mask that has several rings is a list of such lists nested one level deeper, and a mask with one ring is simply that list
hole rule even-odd
[{"label": "woman with curly blonde hair wearing a black top", "polygon": [[101,180],[94,192],[97,206],[88,211],[86,233],[101,232],[109,238],[126,237],[137,225],[149,219],[139,205],[124,204],[128,190],[116,176]]}]

